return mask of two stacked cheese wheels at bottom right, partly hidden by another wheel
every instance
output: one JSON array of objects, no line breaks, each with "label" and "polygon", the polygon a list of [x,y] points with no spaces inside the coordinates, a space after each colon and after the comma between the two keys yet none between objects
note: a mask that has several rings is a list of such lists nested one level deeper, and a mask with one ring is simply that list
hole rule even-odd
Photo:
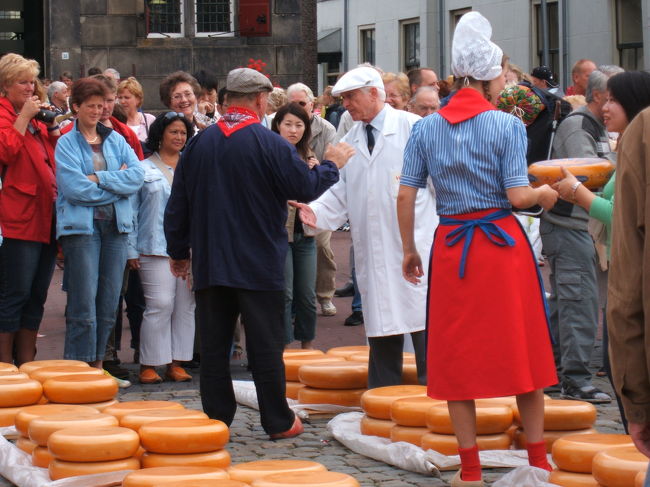
[{"label": "two stacked cheese wheels at bottom right, partly hidden by another wheel", "polygon": [[[611,448],[633,446],[628,435],[569,435],[553,443],[553,462],[558,470],[551,473],[550,482],[565,487],[597,485],[592,476],[592,462],[596,454]],[[582,482],[582,483],[580,483]]]}]

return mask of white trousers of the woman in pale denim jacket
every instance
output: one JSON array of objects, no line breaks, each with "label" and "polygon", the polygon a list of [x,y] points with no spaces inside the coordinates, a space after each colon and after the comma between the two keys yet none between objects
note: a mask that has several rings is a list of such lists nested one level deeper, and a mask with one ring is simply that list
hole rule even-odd
[{"label": "white trousers of the woman in pale denim jacket", "polygon": [[146,308],[140,330],[140,363],[164,365],[192,360],[194,293],[176,278],[167,257],[140,256],[140,280]]}]

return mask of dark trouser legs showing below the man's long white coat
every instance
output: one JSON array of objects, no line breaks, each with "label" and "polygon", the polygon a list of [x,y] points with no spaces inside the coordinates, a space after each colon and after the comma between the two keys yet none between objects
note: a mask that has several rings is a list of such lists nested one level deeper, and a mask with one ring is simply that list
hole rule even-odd
[{"label": "dark trouser legs showing below the man's long white coat", "polygon": [[[427,383],[426,331],[411,333],[418,382]],[[402,383],[404,335],[368,337],[370,359],[368,362],[368,389],[395,386]]]}]

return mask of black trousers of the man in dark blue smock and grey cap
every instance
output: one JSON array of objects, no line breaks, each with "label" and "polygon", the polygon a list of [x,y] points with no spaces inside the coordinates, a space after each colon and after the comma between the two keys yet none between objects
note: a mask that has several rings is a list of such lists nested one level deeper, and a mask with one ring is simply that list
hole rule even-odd
[{"label": "black trousers of the man in dark blue smock and grey cap", "polygon": [[262,427],[268,434],[291,428],[294,413],[286,400],[284,290],[250,291],[213,286],[196,291],[196,319],[201,333],[203,410],[228,426],[237,403],[230,377],[230,351],[237,316],[246,333],[248,363],[257,391]]}]

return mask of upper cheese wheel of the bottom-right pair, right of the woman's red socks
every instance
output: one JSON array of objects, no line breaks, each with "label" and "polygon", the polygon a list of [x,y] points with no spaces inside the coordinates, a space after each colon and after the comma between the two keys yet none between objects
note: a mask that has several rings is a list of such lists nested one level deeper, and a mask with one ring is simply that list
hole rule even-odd
[{"label": "upper cheese wheel of the bottom-right pair, right of the woman's red socks", "polygon": [[629,435],[568,435],[553,443],[553,461],[560,470],[591,473],[591,463],[597,453],[612,447],[633,445]]}]

